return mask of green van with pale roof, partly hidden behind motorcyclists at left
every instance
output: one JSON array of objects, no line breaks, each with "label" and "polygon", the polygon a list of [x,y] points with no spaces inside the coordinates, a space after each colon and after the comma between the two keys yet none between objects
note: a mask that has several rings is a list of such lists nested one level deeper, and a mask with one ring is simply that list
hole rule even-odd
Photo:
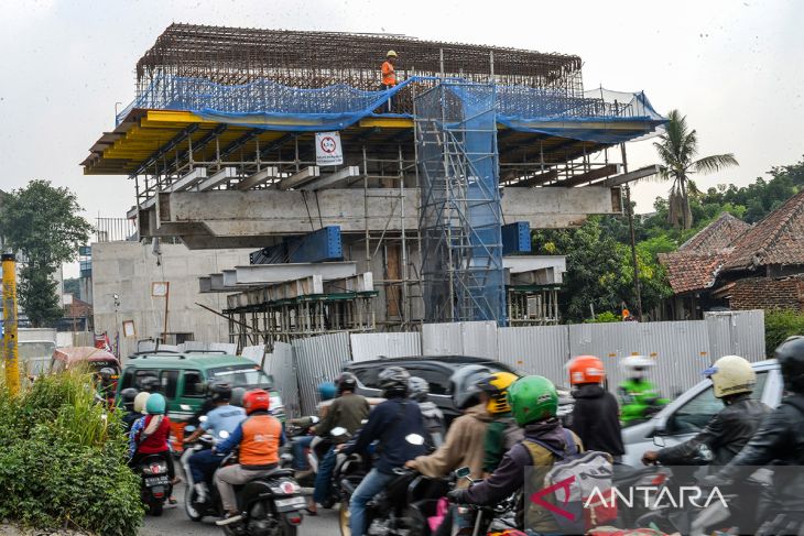
[{"label": "green van with pale roof, partly hidden behind motorcyclists at left", "polygon": [[284,406],[273,376],[240,355],[166,351],[131,355],[118,382],[118,397],[124,389],[139,389],[145,376],[156,376],[161,382],[159,392],[167,402],[176,450],[182,450],[184,427],[204,406],[207,385],[216,380],[232,387],[264,389],[271,395],[271,413],[284,420]]}]

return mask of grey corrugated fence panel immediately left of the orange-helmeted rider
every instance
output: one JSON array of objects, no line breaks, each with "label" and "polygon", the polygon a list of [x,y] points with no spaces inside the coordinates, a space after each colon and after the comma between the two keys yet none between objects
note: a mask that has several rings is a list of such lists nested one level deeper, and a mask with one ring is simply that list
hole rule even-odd
[{"label": "grey corrugated fence panel immediately left of the orange-helmeted rider", "polygon": [[566,384],[564,365],[569,359],[567,326],[500,328],[498,359],[525,372]]}]

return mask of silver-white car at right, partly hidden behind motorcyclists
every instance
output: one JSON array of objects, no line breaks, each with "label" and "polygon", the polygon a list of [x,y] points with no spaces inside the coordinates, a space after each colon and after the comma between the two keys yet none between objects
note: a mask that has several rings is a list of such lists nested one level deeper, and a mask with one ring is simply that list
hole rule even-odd
[{"label": "silver-white car at right, partly hidden behind motorcyclists", "polygon": [[[784,394],[784,382],[775,360],[751,363],[757,372],[752,397],[775,407]],[[700,431],[724,405],[715,397],[711,380],[704,380],[687,390],[651,419],[622,429],[626,455],[622,462],[639,467],[647,450],[656,450],[656,444],[672,447]],[[655,438],[655,440],[654,440]]]}]

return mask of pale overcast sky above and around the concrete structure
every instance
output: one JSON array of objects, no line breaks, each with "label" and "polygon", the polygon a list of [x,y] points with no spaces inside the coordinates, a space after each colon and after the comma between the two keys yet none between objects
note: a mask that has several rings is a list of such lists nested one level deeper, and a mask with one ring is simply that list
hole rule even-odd
[{"label": "pale overcast sky above and around the concrete structure", "polygon": [[[77,194],[90,221],[123,217],[133,205],[126,177],[84,176],[79,163],[113,129],[116,106],[133,99],[134,65],[172,22],[576,54],[586,89],[644,90],[661,113],[686,114],[702,155],[735,154],[738,168],[697,178],[704,189],[746,185],[804,155],[804,2],[796,0],[0,0],[0,189],[50,179]],[[651,143],[629,145],[631,168],[656,162]],[[651,211],[667,189],[637,184],[637,211]]]}]

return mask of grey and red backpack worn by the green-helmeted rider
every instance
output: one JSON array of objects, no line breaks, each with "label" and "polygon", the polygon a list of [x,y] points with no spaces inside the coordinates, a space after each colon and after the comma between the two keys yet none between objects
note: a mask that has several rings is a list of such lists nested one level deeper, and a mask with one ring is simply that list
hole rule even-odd
[{"label": "grey and red backpack worn by the green-helmeted rider", "polygon": [[613,467],[609,455],[595,450],[582,453],[573,434],[565,429],[564,435],[564,451],[534,439],[523,442],[534,463],[544,460],[546,453],[554,460],[543,473],[542,488],[528,499],[550,512],[562,534],[586,534],[617,518],[617,503],[611,495]]}]

